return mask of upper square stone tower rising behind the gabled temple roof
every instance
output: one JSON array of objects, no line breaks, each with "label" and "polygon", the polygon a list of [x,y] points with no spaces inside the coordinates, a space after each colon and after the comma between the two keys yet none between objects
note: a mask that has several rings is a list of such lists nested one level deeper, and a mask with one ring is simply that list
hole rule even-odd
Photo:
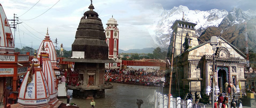
[{"label": "upper square stone tower rising behind the gabled temple roof", "polygon": [[[167,58],[170,58],[172,43],[174,43],[174,57],[182,54],[185,50],[193,48],[199,45],[197,38],[191,37],[196,36],[195,26],[196,23],[190,23],[185,21],[184,14],[182,20],[176,20],[172,25],[172,38],[170,40]],[[174,36],[175,35],[175,36]],[[175,37],[175,38],[174,38]],[[189,38],[188,38],[189,37]]]}]

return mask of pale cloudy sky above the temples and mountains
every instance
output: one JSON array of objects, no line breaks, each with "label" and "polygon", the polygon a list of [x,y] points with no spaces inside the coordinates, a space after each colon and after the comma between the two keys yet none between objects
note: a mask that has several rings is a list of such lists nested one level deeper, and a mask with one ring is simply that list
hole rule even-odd
[{"label": "pale cloudy sky above the temples and mountains", "polygon": [[[51,39],[58,39],[58,48],[61,43],[63,43],[64,49],[71,48],[80,19],[83,13],[89,10],[90,0],[38,1],[0,0],[9,20],[13,19],[15,13],[19,22],[23,22],[17,25],[16,31],[12,29],[13,35],[15,32],[15,44],[22,43],[23,47],[31,47],[31,44],[39,46],[48,27]],[[57,4],[54,5],[55,3]],[[152,3],[162,4],[166,10],[180,5],[187,6],[191,10],[201,11],[214,8],[229,11],[234,7],[243,10],[256,10],[254,0],[93,0],[94,11],[99,14],[104,28],[112,15],[117,20],[119,49],[122,50],[158,47],[154,44],[149,34],[150,31],[147,29],[152,24],[150,23],[152,18],[148,12],[152,8],[150,7]],[[35,6],[33,7],[33,5]],[[51,8],[52,6],[53,8]],[[29,11],[25,13],[27,10]],[[45,12],[46,10],[48,11]],[[11,22],[9,23],[11,24]]]}]

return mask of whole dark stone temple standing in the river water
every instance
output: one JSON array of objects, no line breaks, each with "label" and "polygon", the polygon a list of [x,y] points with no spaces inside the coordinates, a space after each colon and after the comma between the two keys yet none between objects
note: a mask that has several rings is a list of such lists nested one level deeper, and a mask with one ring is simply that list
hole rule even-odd
[{"label": "whole dark stone temple standing in the river water", "polygon": [[67,81],[71,80],[73,83],[66,86],[73,90],[73,97],[97,99],[105,97],[106,88],[113,87],[104,83],[104,70],[105,63],[115,61],[108,58],[104,28],[98,13],[93,11],[92,3],[89,9],[78,25],[72,44],[72,57],[63,61],[75,62],[75,72],[70,72],[67,76]]}]

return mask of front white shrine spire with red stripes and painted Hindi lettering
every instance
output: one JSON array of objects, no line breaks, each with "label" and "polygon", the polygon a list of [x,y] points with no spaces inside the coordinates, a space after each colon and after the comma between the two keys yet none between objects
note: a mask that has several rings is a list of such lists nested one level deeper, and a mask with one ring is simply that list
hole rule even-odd
[{"label": "front white shrine spire with red stripes and painted Hindi lettering", "polygon": [[39,68],[36,52],[21,84],[18,103],[19,108],[50,108],[49,89],[42,68]]}]

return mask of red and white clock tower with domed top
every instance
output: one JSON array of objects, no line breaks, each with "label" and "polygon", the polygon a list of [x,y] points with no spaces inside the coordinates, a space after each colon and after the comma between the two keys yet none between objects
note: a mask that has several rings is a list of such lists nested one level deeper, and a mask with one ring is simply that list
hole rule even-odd
[{"label": "red and white clock tower with domed top", "polygon": [[105,28],[106,42],[108,44],[108,57],[116,61],[116,63],[106,63],[105,67],[112,66],[121,67],[122,60],[118,57],[119,29],[117,28],[117,20],[110,18]]}]

